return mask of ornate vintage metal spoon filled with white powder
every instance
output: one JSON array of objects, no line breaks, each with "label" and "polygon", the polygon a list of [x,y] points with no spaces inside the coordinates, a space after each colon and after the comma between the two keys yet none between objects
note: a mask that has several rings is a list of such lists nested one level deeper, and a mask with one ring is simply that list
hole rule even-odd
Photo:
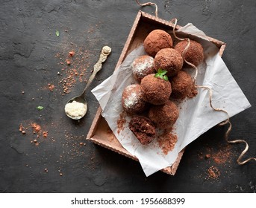
[{"label": "ornate vintage metal spoon filled with white powder", "polygon": [[87,85],[84,88],[84,91],[81,95],[73,97],[65,105],[65,113],[68,117],[79,120],[87,113],[87,100],[85,98],[85,93],[87,88],[93,82],[94,77],[102,69],[102,63],[107,59],[107,56],[110,54],[111,48],[104,46],[102,52],[99,55],[99,61],[96,62],[96,65],[93,67],[93,74],[90,76]]}]

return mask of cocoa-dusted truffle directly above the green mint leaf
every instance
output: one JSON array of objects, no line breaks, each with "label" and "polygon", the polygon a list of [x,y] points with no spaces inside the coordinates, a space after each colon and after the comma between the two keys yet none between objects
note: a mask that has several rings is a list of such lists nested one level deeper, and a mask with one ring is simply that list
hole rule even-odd
[{"label": "cocoa-dusted truffle directly above the green mint leaf", "polygon": [[183,66],[183,58],[181,53],[173,48],[164,48],[158,51],[154,57],[154,68],[166,70],[167,76],[172,77],[181,70]]}]

